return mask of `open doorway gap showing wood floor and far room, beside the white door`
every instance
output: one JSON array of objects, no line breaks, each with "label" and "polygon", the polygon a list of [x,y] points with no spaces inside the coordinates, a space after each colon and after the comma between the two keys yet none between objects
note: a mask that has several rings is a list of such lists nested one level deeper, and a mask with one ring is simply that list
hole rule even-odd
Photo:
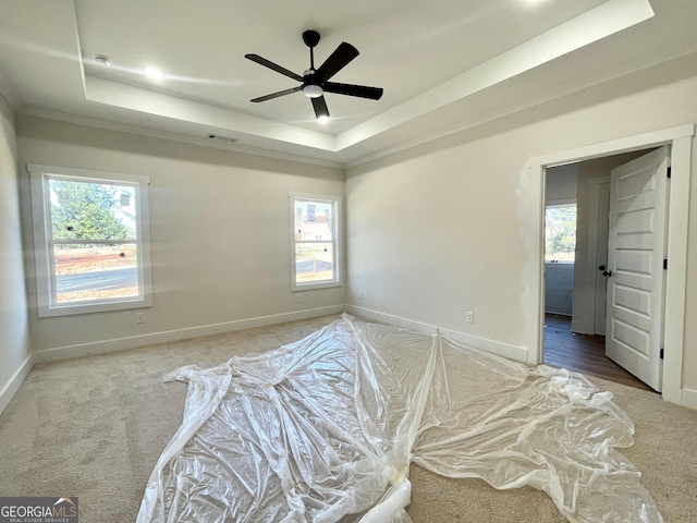
[{"label": "open doorway gap showing wood floor and far room, beside the white door", "polygon": [[[610,173],[649,150],[547,169],[542,361],[652,390],[606,355],[608,279],[598,271],[608,264]],[[574,212],[560,227],[554,217],[564,209]]]}]

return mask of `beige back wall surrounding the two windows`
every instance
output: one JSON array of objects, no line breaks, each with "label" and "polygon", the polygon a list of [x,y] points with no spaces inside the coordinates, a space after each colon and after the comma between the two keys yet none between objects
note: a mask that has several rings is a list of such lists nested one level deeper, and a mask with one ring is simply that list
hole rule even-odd
[{"label": "beige back wall surrounding the two windows", "polygon": [[[19,119],[22,207],[32,251],[29,162],[150,177],[154,305],[38,318],[40,360],[135,346],[343,309],[344,289],[291,292],[289,191],[343,196],[339,169],[294,163],[33,117]],[[27,264],[33,271],[33,260]]]}]

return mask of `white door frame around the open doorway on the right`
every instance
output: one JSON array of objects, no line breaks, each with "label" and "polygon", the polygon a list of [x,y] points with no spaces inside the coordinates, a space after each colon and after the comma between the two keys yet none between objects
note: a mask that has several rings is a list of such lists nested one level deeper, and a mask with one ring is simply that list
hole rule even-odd
[{"label": "white door frame around the open doorway on the right", "polygon": [[527,161],[526,170],[531,190],[531,211],[537,233],[531,236],[529,264],[528,363],[542,363],[545,327],[545,224],[546,170],[565,163],[613,156],[623,153],[671,146],[671,184],[668,230],[669,270],[665,282],[665,356],[663,360],[663,399],[697,408],[683,393],[683,348],[685,329],[685,283],[687,279],[687,227],[689,218],[689,182],[692,175],[692,141],[695,124],[681,125],[646,134],[598,143],[576,149],[553,153]]}]

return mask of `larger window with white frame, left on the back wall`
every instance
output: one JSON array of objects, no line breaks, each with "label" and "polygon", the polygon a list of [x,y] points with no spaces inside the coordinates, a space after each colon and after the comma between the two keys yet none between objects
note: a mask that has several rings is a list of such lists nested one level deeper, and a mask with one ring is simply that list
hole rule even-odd
[{"label": "larger window with white frame, left on the back wall", "polygon": [[39,316],[150,306],[147,177],[28,170]]}]

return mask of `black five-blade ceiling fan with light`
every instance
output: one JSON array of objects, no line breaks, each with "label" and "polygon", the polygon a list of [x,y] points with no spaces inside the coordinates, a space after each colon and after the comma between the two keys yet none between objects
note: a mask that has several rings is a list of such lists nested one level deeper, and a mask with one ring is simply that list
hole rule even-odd
[{"label": "black five-blade ceiling fan with light", "polygon": [[380,87],[368,87],[365,85],[339,84],[335,82],[329,82],[329,78],[331,78],[334,74],[345,68],[348,62],[351,62],[358,56],[358,50],[351,44],[342,41],[339,47],[334,49],[334,52],[332,52],[330,57],[325,60],[325,63],[322,63],[319,69],[315,69],[314,49],[317,44],[319,44],[319,33],[317,33],[316,31],[304,32],[303,41],[307,47],[309,47],[309,69],[305,71],[302,76],[258,54],[244,56],[244,58],[247,58],[253,62],[257,62],[265,68],[269,68],[276,71],[277,73],[289,76],[296,82],[301,82],[301,85],[296,87],[279,90],[278,93],[272,93],[266,96],[260,96],[259,98],[254,98],[250,101],[259,102],[271,100],[273,98],[279,98],[281,96],[302,90],[303,94],[311,100],[317,120],[322,120],[329,118],[329,109],[327,108],[327,101],[325,100],[323,96],[325,93],[357,96],[359,98],[369,98],[371,100],[380,99],[380,97],[382,96],[382,88]]}]

